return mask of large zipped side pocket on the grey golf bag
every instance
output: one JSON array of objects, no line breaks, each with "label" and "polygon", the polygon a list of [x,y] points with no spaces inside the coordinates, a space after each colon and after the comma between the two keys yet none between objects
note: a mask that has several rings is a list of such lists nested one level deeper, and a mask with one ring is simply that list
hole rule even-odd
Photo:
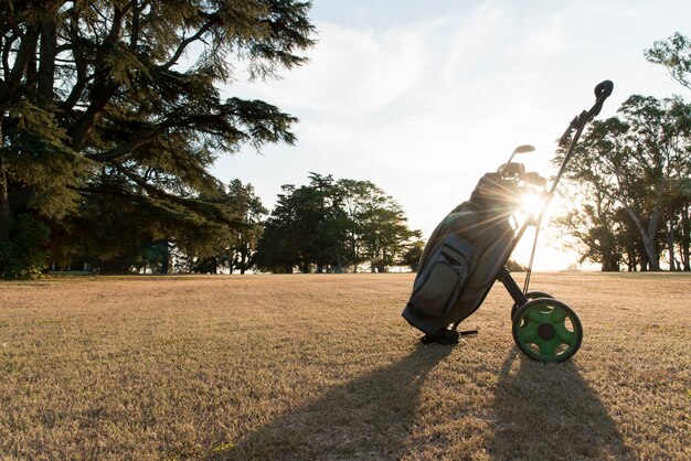
[{"label": "large zipped side pocket on the grey golf bag", "polygon": [[429,317],[444,315],[458,300],[468,279],[472,250],[464,239],[448,236],[413,286],[411,303]]}]

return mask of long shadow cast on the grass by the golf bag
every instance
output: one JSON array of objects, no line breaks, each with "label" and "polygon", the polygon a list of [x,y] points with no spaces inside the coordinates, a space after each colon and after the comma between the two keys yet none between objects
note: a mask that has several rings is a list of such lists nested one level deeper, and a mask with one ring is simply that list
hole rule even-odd
[{"label": "long shadow cast on the grass by the golf bag", "polygon": [[400,362],[329,390],[215,458],[401,458],[406,452],[421,388],[432,368],[451,350],[418,345]]}]

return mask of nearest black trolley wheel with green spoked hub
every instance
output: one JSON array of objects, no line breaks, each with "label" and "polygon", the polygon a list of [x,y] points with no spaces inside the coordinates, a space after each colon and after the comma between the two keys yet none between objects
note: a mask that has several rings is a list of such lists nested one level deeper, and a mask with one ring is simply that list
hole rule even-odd
[{"label": "nearest black trolley wheel with green spoked hub", "polygon": [[564,362],[583,341],[578,315],[565,303],[539,298],[523,304],[513,318],[513,341],[522,353],[539,362]]}]

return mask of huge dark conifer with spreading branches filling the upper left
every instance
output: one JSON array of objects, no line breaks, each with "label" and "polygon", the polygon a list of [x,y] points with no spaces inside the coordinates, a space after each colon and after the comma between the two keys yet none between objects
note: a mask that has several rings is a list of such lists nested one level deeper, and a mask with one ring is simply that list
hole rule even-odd
[{"label": "huge dark conifer with spreading branches filling the upper left", "polygon": [[2,2],[0,245],[19,213],[56,227],[102,199],[155,211],[166,239],[232,222],[200,199],[219,190],[208,168],[242,143],[293,143],[296,119],[264,101],[223,100],[220,87],[236,78],[233,60],[248,63],[251,78],[304,64],[298,53],[313,43],[309,8]]}]

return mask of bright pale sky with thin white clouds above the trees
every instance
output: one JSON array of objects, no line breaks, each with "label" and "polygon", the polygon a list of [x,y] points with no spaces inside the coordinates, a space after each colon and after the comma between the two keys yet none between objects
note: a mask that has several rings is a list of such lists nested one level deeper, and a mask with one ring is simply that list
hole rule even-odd
[{"label": "bright pale sky with thin white clouds above the trees", "polygon": [[[688,0],[313,0],[310,18],[308,64],[266,82],[241,74],[224,88],[300,120],[295,146],[244,147],[212,170],[252,183],[269,208],[281,184],[307,184],[312,171],[368,180],[426,238],[514,147],[535,146],[515,160],[553,174],[555,140],[593,105],[597,83],[614,82],[600,118],[632,94],[684,95],[644,51],[691,36]],[[543,224],[535,269],[575,262],[563,243]],[[531,245],[527,234],[519,262]]]}]

